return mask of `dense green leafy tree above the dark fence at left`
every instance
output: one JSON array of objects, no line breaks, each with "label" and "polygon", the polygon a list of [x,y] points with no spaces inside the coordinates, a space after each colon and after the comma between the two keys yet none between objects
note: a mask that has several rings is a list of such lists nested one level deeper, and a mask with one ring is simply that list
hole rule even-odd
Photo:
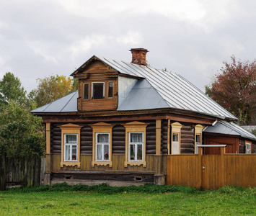
[{"label": "dense green leafy tree above the dark fence at left", "polygon": [[25,104],[10,100],[0,113],[0,156],[30,158],[42,156],[44,149],[42,118],[31,114]]}]

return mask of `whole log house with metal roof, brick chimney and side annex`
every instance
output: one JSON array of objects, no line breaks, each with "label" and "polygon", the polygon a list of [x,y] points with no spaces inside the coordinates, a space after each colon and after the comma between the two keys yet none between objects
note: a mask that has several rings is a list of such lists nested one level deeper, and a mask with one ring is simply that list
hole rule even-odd
[{"label": "whole log house with metal roof, brick chimney and side annex", "polygon": [[92,56],[71,74],[78,91],[32,110],[45,123],[45,184],[165,184],[169,154],[201,144],[256,153],[236,117],[177,73],[147,66],[147,52],[131,49],[131,63]]}]

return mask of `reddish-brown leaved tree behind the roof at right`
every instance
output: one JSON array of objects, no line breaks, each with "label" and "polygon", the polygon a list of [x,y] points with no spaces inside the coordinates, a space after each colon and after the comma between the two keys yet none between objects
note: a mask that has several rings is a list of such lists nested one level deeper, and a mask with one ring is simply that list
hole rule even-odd
[{"label": "reddish-brown leaved tree behind the roof at right", "polygon": [[206,94],[239,117],[239,124],[256,123],[256,60],[224,62],[216,80],[206,86]]}]

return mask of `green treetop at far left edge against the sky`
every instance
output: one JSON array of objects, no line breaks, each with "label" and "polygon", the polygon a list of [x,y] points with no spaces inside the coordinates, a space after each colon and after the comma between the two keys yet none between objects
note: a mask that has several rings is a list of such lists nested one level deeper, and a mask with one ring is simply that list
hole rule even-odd
[{"label": "green treetop at far left edge against the sky", "polygon": [[25,102],[26,91],[22,87],[19,78],[15,77],[13,73],[6,72],[4,78],[0,81],[0,107],[9,104],[10,99],[15,102]]}]

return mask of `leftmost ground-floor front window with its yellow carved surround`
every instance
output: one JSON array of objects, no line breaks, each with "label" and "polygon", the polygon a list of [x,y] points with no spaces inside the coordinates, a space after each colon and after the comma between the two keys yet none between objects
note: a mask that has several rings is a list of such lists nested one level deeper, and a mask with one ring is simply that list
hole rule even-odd
[{"label": "leftmost ground-floor front window with its yellow carved surround", "polygon": [[80,130],[74,124],[61,125],[61,167],[77,166],[80,168]]}]

